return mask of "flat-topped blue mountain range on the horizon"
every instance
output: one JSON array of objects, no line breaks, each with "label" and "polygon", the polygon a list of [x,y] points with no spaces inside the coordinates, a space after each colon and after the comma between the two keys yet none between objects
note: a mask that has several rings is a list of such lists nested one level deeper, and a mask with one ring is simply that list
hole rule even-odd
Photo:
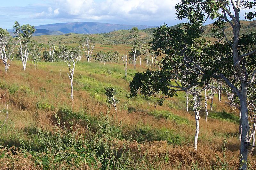
[{"label": "flat-topped blue mountain range on the horizon", "polygon": [[[134,26],[138,27],[140,30],[156,27],[143,25],[108,24],[99,22],[68,22],[35,26],[36,32],[33,35],[61,35],[66,33],[109,33],[115,30],[129,30]],[[13,32],[12,29],[8,31]]]}]

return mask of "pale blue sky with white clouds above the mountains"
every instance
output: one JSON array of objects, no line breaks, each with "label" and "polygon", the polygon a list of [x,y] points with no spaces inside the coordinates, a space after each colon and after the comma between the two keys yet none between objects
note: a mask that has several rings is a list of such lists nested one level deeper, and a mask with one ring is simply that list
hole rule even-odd
[{"label": "pale blue sky with white clouds above the mountains", "polygon": [[[14,21],[34,26],[61,22],[106,22],[169,26],[180,0],[0,0],[0,24],[10,29]],[[242,15],[241,15],[242,16]],[[209,21],[210,23],[211,21]],[[207,23],[206,23],[207,24]]]}]

